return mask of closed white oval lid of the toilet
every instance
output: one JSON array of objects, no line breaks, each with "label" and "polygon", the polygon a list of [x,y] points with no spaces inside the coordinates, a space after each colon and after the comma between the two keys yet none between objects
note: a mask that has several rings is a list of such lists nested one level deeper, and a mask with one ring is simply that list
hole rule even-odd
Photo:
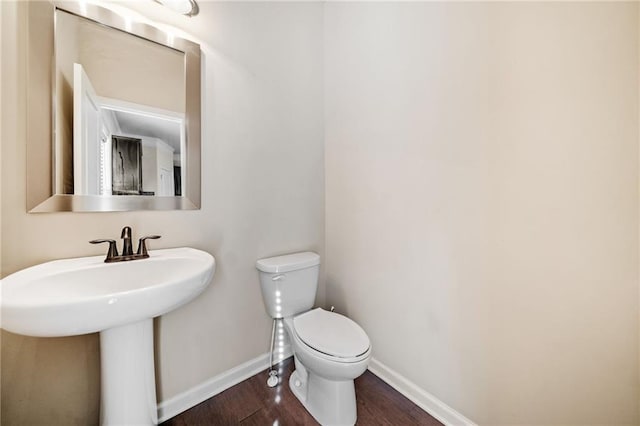
[{"label": "closed white oval lid of the toilet", "polygon": [[316,308],[293,319],[296,334],[307,346],[338,358],[353,358],[369,349],[369,336],[349,318]]}]

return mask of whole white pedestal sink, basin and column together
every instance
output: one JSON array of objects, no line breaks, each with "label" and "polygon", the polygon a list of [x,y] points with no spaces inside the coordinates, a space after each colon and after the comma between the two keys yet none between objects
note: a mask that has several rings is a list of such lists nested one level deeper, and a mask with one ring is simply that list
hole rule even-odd
[{"label": "whole white pedestal sink, basin and column together", "polygon": [[192,248],[148,259],[104,256],[47,262],[4,278],[2,328],[36,337],[100,332],[103,425],[157,424],[152,318],[197,297],[215,260]]}]

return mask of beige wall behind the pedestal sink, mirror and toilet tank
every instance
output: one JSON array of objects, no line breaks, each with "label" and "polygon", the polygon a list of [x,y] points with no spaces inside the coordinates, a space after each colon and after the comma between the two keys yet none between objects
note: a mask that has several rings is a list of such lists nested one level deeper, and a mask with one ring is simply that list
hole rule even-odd
[{"label": "beige wall behind the pedestal sink, mirror and toilet tank", "polygon": [[[125,225],[136,237],[161,234],[152,248],[211,252],[218,262],[211,286],[158,322],[164,400],[267,352],[271,324],[256,259],[307,249],[324,255],[322,8],[202,3],[199,17],[188,19],[153,2],[132,7],[203,45],[202,209],[25,213],[25,15],[21,2],[0,2],[1,273],[101,254],[87,241],[118,236]],[[97,424],[98,368],[96,335],[3,332],[2,424]]]}]

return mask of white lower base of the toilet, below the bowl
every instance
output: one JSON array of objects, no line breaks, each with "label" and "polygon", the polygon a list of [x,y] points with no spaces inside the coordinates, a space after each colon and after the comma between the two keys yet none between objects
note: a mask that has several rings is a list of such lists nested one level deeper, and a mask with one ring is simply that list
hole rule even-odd
[{"label": "white lower base of the toilet, below the bowl", "polygon": [[291,373],[289,388],[309,414],[323,426],[353,426],[357,418],[353,380],[327,380],[301,370]]}]

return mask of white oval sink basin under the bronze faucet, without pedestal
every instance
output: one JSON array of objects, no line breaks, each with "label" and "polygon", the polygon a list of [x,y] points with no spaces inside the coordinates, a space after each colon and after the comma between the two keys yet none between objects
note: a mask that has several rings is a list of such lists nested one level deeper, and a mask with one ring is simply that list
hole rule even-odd
[{"label": "white oval sink basin under the bronze faucet, without pedestal", "polygon": [[2,328],[38,337],[94,333],[153,318],[209,284],[214,258],[192,248],[104,263],[104,256],[55,260],[2,280]]}]

